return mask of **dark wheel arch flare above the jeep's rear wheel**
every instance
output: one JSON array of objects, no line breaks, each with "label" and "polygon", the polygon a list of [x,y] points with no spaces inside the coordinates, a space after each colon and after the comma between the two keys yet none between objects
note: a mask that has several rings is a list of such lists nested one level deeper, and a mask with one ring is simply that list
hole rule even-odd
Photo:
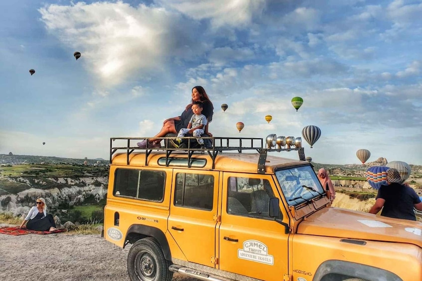
[{"label": "dark wheel arch flare above the jeep's rear wheel", "polygon": [[127,241],[129,238],[131,238],[131,236],[134,235],[140,236],[139,239],[142,239],[144,237],[152,237],[157,240],[159,245],[161,246],[165,259],[171,261],[170,247],[168,246],[168,242],[165,238],[164,233],[160,229],[143,224],[133,224],[131,225],[131,227],[129,227],[128,232],[126,233],[125,241]]}]

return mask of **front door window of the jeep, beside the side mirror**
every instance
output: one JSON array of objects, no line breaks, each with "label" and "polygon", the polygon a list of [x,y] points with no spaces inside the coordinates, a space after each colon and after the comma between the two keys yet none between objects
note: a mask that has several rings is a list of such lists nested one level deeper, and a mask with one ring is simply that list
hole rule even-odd
[{"label": "front door window of the jeep, beside the side mirror", "polygon": [[228,214],[273,219],[268,211],[275,196],[268,180],[229,177],[227,184]]}]

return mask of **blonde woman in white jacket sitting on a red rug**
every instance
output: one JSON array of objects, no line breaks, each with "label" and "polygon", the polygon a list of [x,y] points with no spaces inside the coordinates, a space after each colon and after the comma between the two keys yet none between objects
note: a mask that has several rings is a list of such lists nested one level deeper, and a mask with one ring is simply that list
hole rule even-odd
[{"label": "blonde woman in white jacket sitting on a red rug", "polygon": [[[27,223],[26,223],[27,222]],[[33,206],[25,219],[20,224],[20,228],[26,223],[26,228],[36,231],[55,231],[57,230],[53,216],[47,214],[47,205],[44,198],[36,200],[36,206]]]}]

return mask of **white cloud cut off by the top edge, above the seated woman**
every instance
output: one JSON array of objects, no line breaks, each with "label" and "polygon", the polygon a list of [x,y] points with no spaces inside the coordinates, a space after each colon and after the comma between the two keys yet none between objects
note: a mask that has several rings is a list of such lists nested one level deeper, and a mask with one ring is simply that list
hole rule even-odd
[{"label": "white cloud cut off by the top edge, above the seated woman", "polygon": [[245,27],[265,8],[265,0],[159,0],[157,2],[193,19],[210,19],[216,28]]}]

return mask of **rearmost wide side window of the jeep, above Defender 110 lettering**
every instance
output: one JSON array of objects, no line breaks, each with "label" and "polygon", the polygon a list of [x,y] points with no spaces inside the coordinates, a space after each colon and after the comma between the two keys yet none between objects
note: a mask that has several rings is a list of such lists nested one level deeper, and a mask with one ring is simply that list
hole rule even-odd
[{"label": "rearmost wide side window of the jeep, above Defender 110 lettering", "polygon": [[113,194],[162,202],[165,173],[162,171],[116,169]]}]

